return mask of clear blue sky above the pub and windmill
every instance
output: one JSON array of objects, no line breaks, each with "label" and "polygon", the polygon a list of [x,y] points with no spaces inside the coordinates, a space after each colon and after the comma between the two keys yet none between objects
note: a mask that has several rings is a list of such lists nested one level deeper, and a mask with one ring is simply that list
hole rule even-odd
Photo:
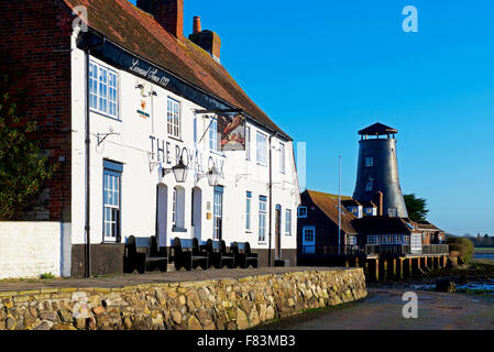
[{"label": "clear blue sky above the pub and windmill", "polygon": [[[405,33],[405,6],[418,33]],[[404,193],[429,220],[494,234],[494,1],[185,0],[222,41],[221,62],[295,142],[307,187],[353,194],[358,130],[398,129]]]}]

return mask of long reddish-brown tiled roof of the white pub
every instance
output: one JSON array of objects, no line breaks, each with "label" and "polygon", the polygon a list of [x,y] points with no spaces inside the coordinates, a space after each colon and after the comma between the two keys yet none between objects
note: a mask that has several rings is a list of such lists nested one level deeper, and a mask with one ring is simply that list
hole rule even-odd
[{"label": "long reddish-brown tiled roof of the white pub", "polygon": [[175,74],[187,82],[241,108],[270,129],[283,132],[240,88],[224,67],[188,38],[177,40],[128,0],[63,0],[85,6],[88,25],[110,41]]}]

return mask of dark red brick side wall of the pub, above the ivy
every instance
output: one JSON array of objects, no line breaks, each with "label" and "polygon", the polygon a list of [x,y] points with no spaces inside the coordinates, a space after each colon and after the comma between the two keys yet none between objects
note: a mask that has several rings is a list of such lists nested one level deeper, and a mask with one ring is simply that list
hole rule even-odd
[{"label": "dark red brick side wall of the pub, above the ivy", "polygon": [[24,220],[70,221],[70,10],[61,0],[0,2],[0,59],[21,73],[28,117],[51,163],[65,157]]}]

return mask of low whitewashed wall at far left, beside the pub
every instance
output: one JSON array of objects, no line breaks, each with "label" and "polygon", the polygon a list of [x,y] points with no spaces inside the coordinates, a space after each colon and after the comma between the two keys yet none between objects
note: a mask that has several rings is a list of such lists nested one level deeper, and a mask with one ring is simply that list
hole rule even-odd
[{"label": "low whitewashed wall at far left, beside the pub", "polygon": [[70,223],[0,222],[0,278],[70,276]]}]

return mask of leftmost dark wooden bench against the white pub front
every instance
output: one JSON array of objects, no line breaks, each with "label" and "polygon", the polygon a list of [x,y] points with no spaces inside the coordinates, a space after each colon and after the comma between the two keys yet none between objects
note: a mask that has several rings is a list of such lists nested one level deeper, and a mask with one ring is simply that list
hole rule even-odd
[{"label": "leftmost dark wooden bench against the white pub front", "polygon": [[[143,248],[144,252],[138,250]],[[156,237],[153,235],[150,239],[140,238],[139,241],[133,235],[129,237],[124,250],[123,271],[133,273],[136,270],[139,273],[144,274],[146,270],[150,271],[155,265],[162,272],[166,272],[168,265],[166,249],[158,248]]]}]

